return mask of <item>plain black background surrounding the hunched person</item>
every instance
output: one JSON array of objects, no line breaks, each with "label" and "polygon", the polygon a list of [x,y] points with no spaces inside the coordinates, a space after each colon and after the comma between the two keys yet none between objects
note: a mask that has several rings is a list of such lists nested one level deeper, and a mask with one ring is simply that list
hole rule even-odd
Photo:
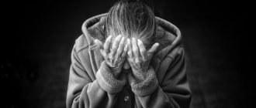
[{"label": "plain black background surrounding the hunched person", "polygon": [[[107,12],[113,3],[3,3],[1,107],[65,107],[74,40],[86,19]],[[182,31],[192,108],[254,103],[249,5],[246,1],[154,1],[156,15]]]}]

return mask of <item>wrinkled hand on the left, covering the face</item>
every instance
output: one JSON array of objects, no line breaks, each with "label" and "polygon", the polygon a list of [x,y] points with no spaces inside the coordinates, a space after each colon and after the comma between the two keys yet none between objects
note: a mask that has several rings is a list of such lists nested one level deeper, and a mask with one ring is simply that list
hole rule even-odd
[{"label": "wrinkled hand on the left, covering the face", "polygon": [[118,35],[116,39],[112,42],[112,47],[110,44],[112,41],[112,35],[106,39],[104,46],[102,42],[95,39],[95,43],[99,46],[100,52],[109,66],[109,69],[114,76],[118,77],[119,73],[123,68],[123,62],[126,59],[126,52],[128,51],[128,46],[126,45],[126,38],[122,35]]}]

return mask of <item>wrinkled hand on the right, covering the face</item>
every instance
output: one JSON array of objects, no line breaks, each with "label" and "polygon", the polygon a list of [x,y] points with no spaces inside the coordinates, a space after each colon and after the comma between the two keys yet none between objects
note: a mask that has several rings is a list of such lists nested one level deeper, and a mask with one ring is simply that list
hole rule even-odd
[{"label": "wrinkled hand on the right, covering the face", "polygon": [[[132,42],[130,42],[130,39],[127,39],[127,46],[129,47],[127,60],[133,70],[133,75],[146,73],[149,69],[150,60],[159,44],[155,43],[148,51],[146,51],[143,42],[141,42],[140,39],[136,40],[133,38]],[[140,77],[139,79],[144,78]]]}]

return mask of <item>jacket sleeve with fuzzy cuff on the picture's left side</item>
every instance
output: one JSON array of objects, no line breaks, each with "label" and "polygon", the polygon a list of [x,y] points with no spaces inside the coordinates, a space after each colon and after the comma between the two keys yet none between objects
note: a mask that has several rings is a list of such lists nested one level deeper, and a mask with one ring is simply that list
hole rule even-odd
[{"label": "jacket sleeve with fuzzy cuff on the picture's left side", "polygon": [[91,66],[89,63],[81,63],[81,60],[89,61],[88,52],[83,52],[82,56],[78,56],[73,49],[67,87],[67,108],[109,108],[114,106],[116,94],[123,89],[126,83],[125,77],[119,75],[119,78],[116,79],[104,61],[97,73],[93,73],[92,69],[88,69]]}]

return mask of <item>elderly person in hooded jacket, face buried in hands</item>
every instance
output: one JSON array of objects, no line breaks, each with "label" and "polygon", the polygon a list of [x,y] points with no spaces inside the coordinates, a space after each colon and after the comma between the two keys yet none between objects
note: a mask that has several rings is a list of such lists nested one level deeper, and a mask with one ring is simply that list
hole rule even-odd
[{"label": "elderly person in hooded jacket, face buried in hands", "polygon": [[68,108],[189,107],[181,32],[143,2],[117,2],[82,25]]}]

